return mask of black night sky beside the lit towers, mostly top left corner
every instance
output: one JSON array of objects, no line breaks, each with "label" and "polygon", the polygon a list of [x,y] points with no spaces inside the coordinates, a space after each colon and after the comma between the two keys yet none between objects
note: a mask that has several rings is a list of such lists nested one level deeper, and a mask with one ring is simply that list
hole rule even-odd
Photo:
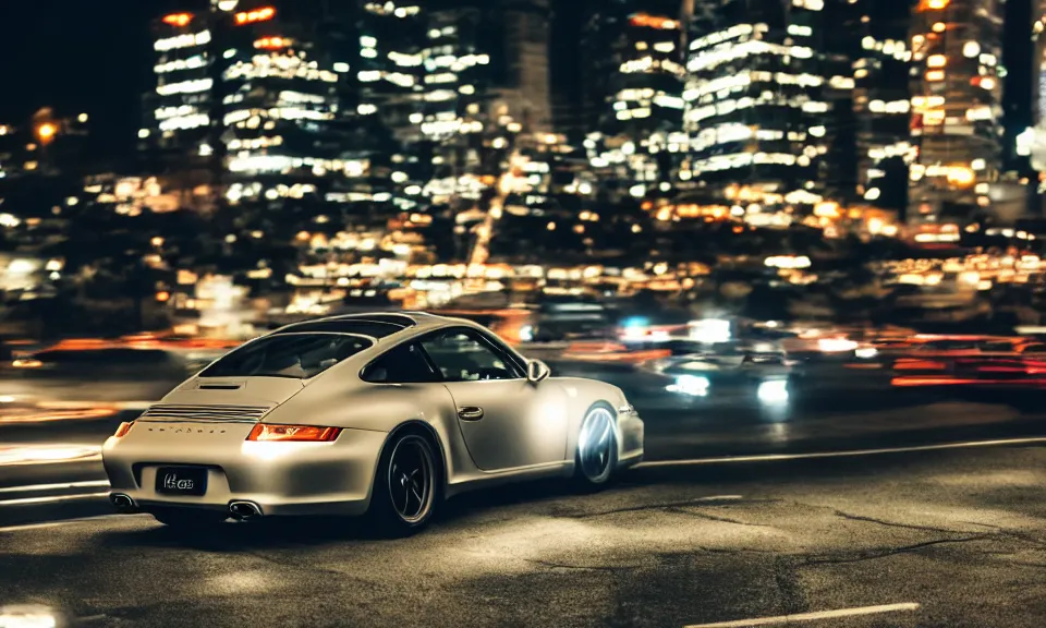
[{"label": "black night sky beside the lit towers, mostly top left corner", "polygon": [[[44,106],[66,114],[84,111],[92,117],[99,157],[130,155],[141,121],[139,94],[151,83],[148,22],[179,4],[184,2],[0,0],[0,123],[25,121]],[[1007,13],[1009,138],[1031,123],[1031,0],[1009,0]],[[557,83],[574,82],[569,73],[556,74]]]}]

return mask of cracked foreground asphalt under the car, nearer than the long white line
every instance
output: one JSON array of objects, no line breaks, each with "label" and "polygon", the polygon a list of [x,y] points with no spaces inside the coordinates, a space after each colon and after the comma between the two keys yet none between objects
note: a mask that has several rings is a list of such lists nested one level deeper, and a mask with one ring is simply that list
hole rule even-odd
[{"label": "cracked foreground asphalt under the car, nearer than the long white line", "polygon": [[836,612],[812,625],[1037,628],[1044,485],[1046,450],[1010,447],[640,469],[585,496],[513,487],[397,541],[346,522],[198,536],[109,517],[0,532],[0,591],[84,626],[678,627]]}]

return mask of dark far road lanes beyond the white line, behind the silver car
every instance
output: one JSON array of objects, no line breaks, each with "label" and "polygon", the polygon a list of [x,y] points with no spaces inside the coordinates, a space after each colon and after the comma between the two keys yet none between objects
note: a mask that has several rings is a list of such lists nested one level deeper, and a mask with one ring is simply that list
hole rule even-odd
[{"label": "dark far road lanes beyond the white line, behind the silver car", "polygon": [[[891,389],[875,373],[826,369],[795,383],[787,403],[764,404],[751,388],[706,399],[664,390],[629,366],[556,364],[557,373],[621,386],[646,422],[646,459],[745,457],[919,447],[1046,435],[1043,395],[971,396]],[[48,386],[53,388],[54,386]],[[71,386],[70,390],[77,387]],[[156,383],[98,387],[47,407],[0,403],[0,526],[109,512],[99,448],[120,421],[159,396]],[[98,401],[97,397],[107,398]],[[2,398],[2,397],[0,397]],[[39,400],[38,391],[34,400]]]}]

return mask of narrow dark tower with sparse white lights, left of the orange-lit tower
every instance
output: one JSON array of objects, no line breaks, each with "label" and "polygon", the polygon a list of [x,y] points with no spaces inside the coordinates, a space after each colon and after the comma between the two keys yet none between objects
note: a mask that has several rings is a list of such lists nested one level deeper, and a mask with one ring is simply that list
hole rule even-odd
[{"label": "narrow dark tower with sparse white lights, left of the orange-lit tower", "polygon": [[851,43],[858,185],[871,204],[903,214],[908,205],[911,98],[910,0],[856,0],[839,29]]}]

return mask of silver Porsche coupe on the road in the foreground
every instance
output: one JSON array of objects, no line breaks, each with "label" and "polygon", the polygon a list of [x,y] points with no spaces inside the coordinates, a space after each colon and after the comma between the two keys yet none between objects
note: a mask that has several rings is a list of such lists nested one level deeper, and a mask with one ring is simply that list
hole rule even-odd
[{"label": "silver Porsche coupe on the road in the foreground", "polygon": [[366,514],[402,533],[473,488],[603,485],[643,458],[643,421],[617,387],[550,377],[479,325],[385,313],[243,345],[102,456],[112,504],[170,526]]}]

